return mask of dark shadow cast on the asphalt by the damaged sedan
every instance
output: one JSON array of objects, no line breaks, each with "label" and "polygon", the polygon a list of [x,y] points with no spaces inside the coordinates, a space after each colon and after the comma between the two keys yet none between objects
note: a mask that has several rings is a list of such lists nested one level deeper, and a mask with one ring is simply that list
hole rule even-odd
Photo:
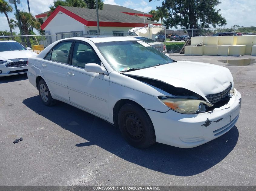
[{"label": "dark shadow cast on the asphalt by the damaged sedan", "polygon": [[[56,106],[46,107],[39,96],[25,99],[23,103],[46,119],[56,123],[82,138],[85,142],[74,147],[99,147],[131,163],[176,176],[192,176],[218,164],[235,147],[238,129],[234,126],[229,132],[204,145],[184,149],[164,144],[155,144],[140,150],[128,145],[118,129],[89,113],[58,102]],[[72,124],[76,125],[72,125]]]}]

